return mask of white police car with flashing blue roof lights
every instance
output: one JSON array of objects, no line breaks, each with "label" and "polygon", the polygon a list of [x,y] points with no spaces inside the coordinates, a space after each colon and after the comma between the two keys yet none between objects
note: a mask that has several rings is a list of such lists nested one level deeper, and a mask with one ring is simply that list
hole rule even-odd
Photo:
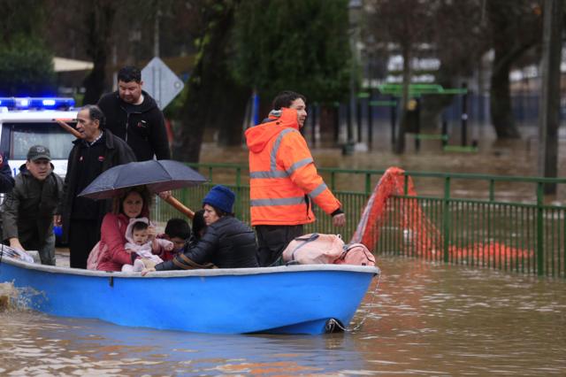
[{"label": "white police car with flashing blue roof lights", "polygon": [[56,119],[74,127],[78,111],[73,106],[73,98],[0,97],[0,153],[8,158],[12,175],[26,163],[27,150],[40,144],[50,149],[55,173],[65,178],[75,137]]}]

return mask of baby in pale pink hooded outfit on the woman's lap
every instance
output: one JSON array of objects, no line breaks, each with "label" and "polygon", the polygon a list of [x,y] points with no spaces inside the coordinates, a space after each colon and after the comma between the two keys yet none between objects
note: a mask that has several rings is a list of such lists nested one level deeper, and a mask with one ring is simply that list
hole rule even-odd
[{"label": "baby in pale pink hooded outfit on the woman's lap", "polygon": [[122,271],[126,273],[139,272],[144,268],[142,259],[149,259],[153,263],[163,262],[158,255],[173,250],[173,242],[164,239],[149,237],[149,220],[147,218],[130,219],[126,228],[126,244],[124,248],[135,252],[139,258],[134,265],[123,265]]}]

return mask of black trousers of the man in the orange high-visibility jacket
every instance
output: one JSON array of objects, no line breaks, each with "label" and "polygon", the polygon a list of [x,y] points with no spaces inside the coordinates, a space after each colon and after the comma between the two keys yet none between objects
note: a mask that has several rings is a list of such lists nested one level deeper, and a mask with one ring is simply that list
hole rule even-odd
[{"label": "black trousers of the man in the orange high-visibility jacket", "polygon": [[256,235],[259,266],[280,265],[283,250],[294,238],[302,235],[302,225],[258,225]]}]

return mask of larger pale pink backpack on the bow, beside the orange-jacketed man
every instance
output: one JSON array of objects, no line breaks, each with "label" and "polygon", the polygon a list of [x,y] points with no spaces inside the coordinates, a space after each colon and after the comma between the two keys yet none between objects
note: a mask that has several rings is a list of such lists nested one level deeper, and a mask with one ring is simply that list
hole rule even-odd
[{"label": "larger pale pink backpack on the bow, beside the orange-jacketed man", "polygon": [[343,247],[340,235],[302,235],[289,242],[283,250],[283,261],[294,261],[300,265],[332,264],[342,254]]}]

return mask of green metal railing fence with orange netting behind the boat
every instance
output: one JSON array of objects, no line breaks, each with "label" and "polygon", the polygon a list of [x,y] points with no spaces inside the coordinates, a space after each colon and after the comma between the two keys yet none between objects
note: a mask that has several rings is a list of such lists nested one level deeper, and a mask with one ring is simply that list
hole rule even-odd
[{"label": "green metal railing fence with orange netting behind the boat", "polygon": [[[197,188],[174,193],[198,209],[214,184],[233,188],[236,216],[249,222],[249,176],[243,165],[192,164],[210,180]],[[334,228],[329,216],[315,206],[317,221],[307,232],[354,234],[367,198],[384,171],[319,169],[347,214],[347,227]],[[464,173],[405,173],[417,196],[392,196],[374,252],[425,258],[459,265],[483,266],[553,277],[566,277],[566,207],[547,204],[546,184],[562,190],[566,179],[509,177]],[[418,211],[416,211],[418,209]],[[157,220],[178,217],[157,200]],[[424,222],[426,227],[423,227]],[[424,242],[424,240],[426,242]]]}]

